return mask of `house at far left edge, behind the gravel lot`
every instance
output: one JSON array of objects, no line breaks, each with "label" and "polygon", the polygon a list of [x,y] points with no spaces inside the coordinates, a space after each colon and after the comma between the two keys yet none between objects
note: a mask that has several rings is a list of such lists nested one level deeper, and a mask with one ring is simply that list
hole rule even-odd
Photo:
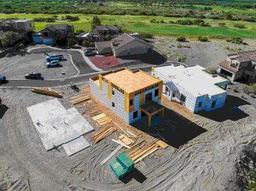
[{"label": "house at far left edge, behind the gravel lot", "polygon": [[[29,37],[28,33],[35,29],[33,20],[1,20],[0,21],[1,39],[3,39],[3,34],[7,32],[16,33],[18,41],[26,39]],[[9,44],[3,44],[1,41],[0,46],[8,46]]]}]

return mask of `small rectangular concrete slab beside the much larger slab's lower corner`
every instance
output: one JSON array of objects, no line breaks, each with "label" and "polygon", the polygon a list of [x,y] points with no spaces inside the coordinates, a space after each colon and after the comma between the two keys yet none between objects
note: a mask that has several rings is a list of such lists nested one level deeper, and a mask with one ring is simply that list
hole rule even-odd
[{"label": "small rectangular concrete slab beside the much larger slab's lower corner", "polygon": [[63,144],[62,147],[68,156],[72,156],[80,150],[90,147],[90,144],[85,140],[83,136],[81,136],[77,139],[74,139],[73,141]]}]

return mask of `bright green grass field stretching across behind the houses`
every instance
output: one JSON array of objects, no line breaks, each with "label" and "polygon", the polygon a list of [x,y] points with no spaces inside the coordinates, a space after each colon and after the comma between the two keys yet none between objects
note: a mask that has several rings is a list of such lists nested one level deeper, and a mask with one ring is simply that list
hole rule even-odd
[{"label": "bright green grass field stretching across behind the houses", "polygon": [[[77,14],[70,14],[76,16]],[[5,18],[26,18],[33,19],[35,17],[49,17],[48,14],[0,14],[0,20]],[[65,16],[65,14],[58,14],[58,18]],[[83,29],[85,31],[91,31],[91,20],[94,15],[84,15],[78,14],[81,20],[75,22],[60,21],[57,22],[35,22],[36,30],[39,31],[43,29],[47,24],[74,24],[75,30]],[[117,24],[124,29],[129,31],[138,32],[149,32],[156,35],[167,35],[167,34],[184,34],[184,35],[209,35],[209,36],[238,36],[238,37],[256,37],[256,30],[251,28],[256,28],[256,24],[253,22],[242,22],[245,24],[247,29],[234,28],[233,25],[236,23],[230,20],[205,20],[209,22],[212,27],[198,27],[198,26],[181,26],[177,24],[151,24],[150,20],[156,18],[156,20],[164,20],[164,22],[169,22],[170,20],[176,21],[178,18],[167,18],[161,16],[110,16],[110,15],[100,15],[98,16],[102,21],[102,24]],[[110,18],[115,18],[114,21],[109,20]],[[219,27],[219,22],[225,22],[226,27]]]}]

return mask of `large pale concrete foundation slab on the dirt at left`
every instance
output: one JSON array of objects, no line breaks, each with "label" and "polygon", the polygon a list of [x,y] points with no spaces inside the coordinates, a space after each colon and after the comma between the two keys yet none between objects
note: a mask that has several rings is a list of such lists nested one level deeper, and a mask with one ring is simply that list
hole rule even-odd
[{"label": "large pale concrete foundation slab on the dirt at left", "polygon": [[27,110],[46,150],[94,130],[77,109],[66,110],[58,99],[27,107]]}]

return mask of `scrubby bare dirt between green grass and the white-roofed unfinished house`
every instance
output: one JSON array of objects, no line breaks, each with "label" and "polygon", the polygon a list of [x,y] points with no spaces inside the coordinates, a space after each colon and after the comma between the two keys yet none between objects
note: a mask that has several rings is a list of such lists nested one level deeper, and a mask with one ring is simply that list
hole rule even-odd
[{"label": "scrubby bare dirt between green grass and the white-roofed unfinished house", "polygon": [[[209,42],[200,42],[190,38],[186,38],[186,40],[188,42],[181,43],[176,41],[176,37],[173,36],[156,36],[150,41],[161,53],[168,56],[168,60],[174,60],[177,57],[185,58],[185,63],[188,65],[198,64],[211,69],[216,69],[218,63],[226,59],[226,54],[256,49],[256,39],[244,39],[244,42],[248,45],[232,44],[217,39],[209,39]],[[178,43],[181,44],[181,48],[177,47]],[[184,46],[190,46],[190,48]],[[233,50],[226,50],[225,46],[233,48]]]}]

